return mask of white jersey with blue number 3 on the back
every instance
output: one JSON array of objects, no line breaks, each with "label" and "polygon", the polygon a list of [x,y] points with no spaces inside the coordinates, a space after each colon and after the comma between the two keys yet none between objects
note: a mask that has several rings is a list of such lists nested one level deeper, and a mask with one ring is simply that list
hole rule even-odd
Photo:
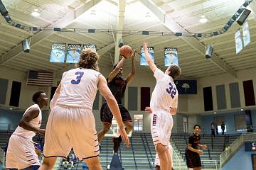
[{"label": "white jersey with blue number 3 on the back", "polygon": [[57,105],[92,110],[100,72],[76,68],[63,73]]}]

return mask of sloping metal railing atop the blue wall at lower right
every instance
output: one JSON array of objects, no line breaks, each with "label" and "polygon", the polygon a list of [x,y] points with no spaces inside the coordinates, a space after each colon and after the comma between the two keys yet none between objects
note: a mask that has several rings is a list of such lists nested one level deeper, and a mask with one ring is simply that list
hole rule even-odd
[{"label": "sloping metal railing atop the blue wall at lower right", "polygon": [[220,167],[224,166],[233,155],[238,152],[240,147],[244,145],[244,142],[250,142],[256,140],[256,132],[245,133],[240,135],[223,153],[220,154]]}]

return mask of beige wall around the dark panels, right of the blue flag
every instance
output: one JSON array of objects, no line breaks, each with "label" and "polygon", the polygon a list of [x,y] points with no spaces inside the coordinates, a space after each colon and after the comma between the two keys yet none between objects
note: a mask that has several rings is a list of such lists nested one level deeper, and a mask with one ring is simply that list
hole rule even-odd
[{"label": "beige wall around the dark panels, right of the blue flag", "polygon": [[[254,94],[256,96],[256,68],[244,69],[237,72],[238,77],[235,78],[230,74],[218,74],[210,77],[202,77],[198,79],[198,94],[197,95],[188,95],[188,112],[189,113],[204,113],[204,103],[203,103],[203,88],[211,86],[213,94],[213,111],[228,111],[230,109],[235,109],[231,107],[230,99],[230,84],[238,82],[239,86],[239,96],[240,96],[240,107],[237,108],[255,108],[254,106],[245,106],[245,95],[243,88],[243,81],[252,80]],[[219,98],[217,98],[217,89],[220,89],[219,85],[224,85],[225,95],[219,93]],[[219,90],[220,91],[220,90]],[[252,92],[251,92],[252,93]],[[233,93],[232,93],[233,94]],[[231,94],[231,95],[232,95]],[[225,96],[225,98],[223,98]],[[220,101],[225,101],[226,108],[220,109],[218,103]],[[235,101],[234,101],[235,102]],[[233,102],[233,103],[234,103]],[[213,113],[213,111],[208,111]]]}]

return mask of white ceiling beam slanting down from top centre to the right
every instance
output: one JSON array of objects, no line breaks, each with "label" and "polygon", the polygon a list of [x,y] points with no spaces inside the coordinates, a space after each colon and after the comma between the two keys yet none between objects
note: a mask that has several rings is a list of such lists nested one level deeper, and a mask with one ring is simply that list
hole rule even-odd
[{"label": "white ceiling beam slanting down from top centre to the right", "polygon": [[[166,26],[169,30],[171,30],[174,33],[189,33],[188,30],[185,30],[182,26],[180,26],[176,21],[171,18],[170,15],[166,15],[164,11],[161,11],[153,2],[148,1],[148,0],[139,0],[149,8],[149,10],[154,13],[154,15],[161,21],[161,23]],[[188,45],[191,45],[195,50],[201,53],[202,57],[205,57],[205,45],[200,42],[197,38],[194,37],[180,37],[182,40],[188,43]],[[213,56],[209,59],[211,62],[216,64],[220,69],[222,69],[225,72],[228,72],[229,74],[233,75],[234,77],[237,77],[237,73],[235,70],[231,67],[228,66],[223,60],[220,60],[215,53],[213,53]]]}]

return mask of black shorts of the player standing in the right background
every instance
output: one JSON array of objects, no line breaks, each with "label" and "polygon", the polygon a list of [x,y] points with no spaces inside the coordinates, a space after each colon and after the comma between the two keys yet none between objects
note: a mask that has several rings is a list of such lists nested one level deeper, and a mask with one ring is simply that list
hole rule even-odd
[{"label": "black shorts of the player standing in the right background", "polygon": [[202,166],[201,159],[198,153],[186,149],[185,157],[188,168],[196,168]]}]

